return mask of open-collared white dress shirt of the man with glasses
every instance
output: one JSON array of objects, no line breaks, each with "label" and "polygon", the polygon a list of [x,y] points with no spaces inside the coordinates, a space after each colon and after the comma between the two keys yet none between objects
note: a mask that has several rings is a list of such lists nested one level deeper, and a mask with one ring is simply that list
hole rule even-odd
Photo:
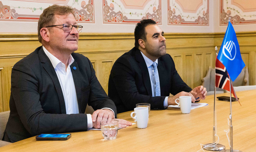
[{"label": "open-collared white dress shirt of the man with glasses", "polygon": [[[72,72],[70,69],[70,65],[74,62],[74,58],[70,54],[69,63],[66,71],[66,66],[62,63],[57,57],[53,56],[46,48],[43,46],[44,53],[50,59],[52,66],[55,69],[55,72],[58,76],[59,83],[62,89],[62,93],[64,96],[65,106],[66,106],[66,114],[76,114],[79,113],[78,102],[76,98],[76,88],[74,79],[72,76]],[[102,109],[110,109],[110,108],[102,108]],[[110,109],[112,110],[112,109]],[[115,116],[115,112],[112,110]],[[92,117],[91,114],[87,114],[87,128],[92,128]]]}]

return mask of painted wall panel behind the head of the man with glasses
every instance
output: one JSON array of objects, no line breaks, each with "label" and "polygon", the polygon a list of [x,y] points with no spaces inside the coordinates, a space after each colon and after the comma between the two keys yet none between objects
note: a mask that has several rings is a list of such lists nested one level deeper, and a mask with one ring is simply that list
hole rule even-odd
[{"label": "painted wall panel behind the head of the man with glasses", "polygon": [[37,22],[44,9],[53,4],[69,5],[74,8],[77,21],[95,23],[94,0],[0,1],[0,21]]}]

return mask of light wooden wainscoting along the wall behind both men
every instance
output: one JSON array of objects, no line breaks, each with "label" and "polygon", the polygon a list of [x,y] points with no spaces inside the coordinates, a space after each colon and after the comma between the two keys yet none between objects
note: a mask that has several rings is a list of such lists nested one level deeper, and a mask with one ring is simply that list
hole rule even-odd
[{"label": "light wooden wainscoting along the wall behind both men", "polygon": [[[225,33],[165,33],[167,53],[181,78],[191,87],[201,85],[209,67],[215,65],[215,46]],[[237,33],[242,58],[249,67],[250,85],[255,85],[256,32]],[[13,65],[41,43],[37,34],[0,33],[0,112],[9,110]],[[134,46],[133,33],[80,33],[77,53],[88,57],[102,87],[108,93],[108,78],[118,57]]]}]

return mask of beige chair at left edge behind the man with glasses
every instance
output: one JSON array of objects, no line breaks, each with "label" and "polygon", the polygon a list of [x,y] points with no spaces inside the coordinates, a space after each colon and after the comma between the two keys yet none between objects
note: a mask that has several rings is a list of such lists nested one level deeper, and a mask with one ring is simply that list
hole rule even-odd
[{"label": "beige chair at left edge behind the man with glasses", "polygon": [[0,147],[11,144],[9,142],[2,141],[9,115],[10,115],[10,111],[0,112]]}]

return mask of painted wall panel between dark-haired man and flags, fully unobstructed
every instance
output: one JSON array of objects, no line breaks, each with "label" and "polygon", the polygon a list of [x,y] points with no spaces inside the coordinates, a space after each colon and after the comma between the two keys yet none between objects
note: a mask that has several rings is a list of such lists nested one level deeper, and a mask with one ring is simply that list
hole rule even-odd
[{"label": "painted wall panel between dark-haired man and flags, fully unobstructed", "polygon": [[168,0],[168,25],[209,26],[209,0]]}]

